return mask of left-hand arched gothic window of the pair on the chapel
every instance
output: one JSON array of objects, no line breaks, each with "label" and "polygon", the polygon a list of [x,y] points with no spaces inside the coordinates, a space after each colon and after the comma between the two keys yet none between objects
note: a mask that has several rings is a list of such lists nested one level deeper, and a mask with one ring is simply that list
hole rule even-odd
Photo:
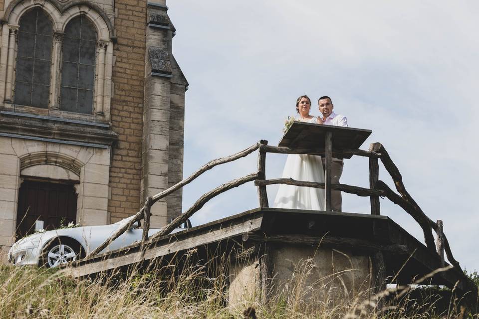
[{"label": "left-hand arched gothic window of the pair on the chapel", "polygon": [[40,8],[20,18],[14,103],[48,107],[53,27]]}]

